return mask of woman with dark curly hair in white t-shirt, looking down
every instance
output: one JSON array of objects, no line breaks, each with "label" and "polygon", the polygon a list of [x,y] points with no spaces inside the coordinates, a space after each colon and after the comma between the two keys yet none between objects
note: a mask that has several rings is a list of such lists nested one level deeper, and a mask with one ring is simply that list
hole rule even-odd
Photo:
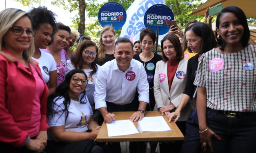
[{"label": "woman with dark curly hair in white t-shirt, looking down", "polygon": [[47,52],[41,51],[45,49],[51,42],[53,29],[56,27],[55,14],[46,7],[33,8],[29,11],[33,29],[36,30],[34,36],[35,53],[32,59],[39,63],[42,76],[45,83],[49,87],[49,94],[53,94],[57,87],[57,68],[53,56]]}]

